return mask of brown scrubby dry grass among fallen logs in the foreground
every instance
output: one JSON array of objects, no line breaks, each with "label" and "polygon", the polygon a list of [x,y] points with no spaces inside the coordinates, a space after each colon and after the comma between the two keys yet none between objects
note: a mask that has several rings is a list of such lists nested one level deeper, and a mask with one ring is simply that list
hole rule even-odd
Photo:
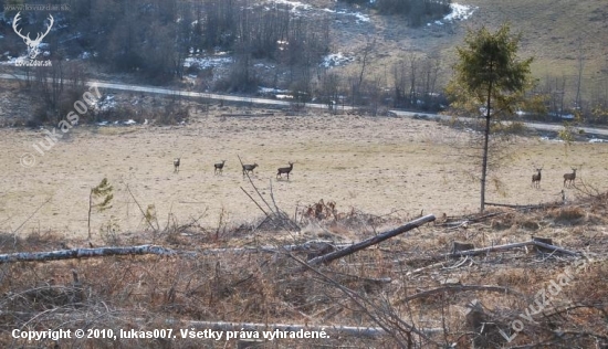
[{"label": "brown scrubby dry grass among fallen logs in the foreground", "polygon": [[[315,202],[318,202],[315,201]],[[580,218],[587,216],[593,203],[596,214],[608,213],[604,195],[573,202],[563,210],[535,210],[531,212],[495,211],[501,214],[502,224],[510,225],[511,232],[492,229],[492,221],[482,220],[457,230],[442,225],[452,221],[472,219],[471,216],[448,218],[444,223],[428,224],[367,248],[331,265],[321,266],[318,272],[302,272],[302,265],[295,258],[305,260],[305,252],[293,256],[285,253],[268,254],[254,252],[216,252],[189,256],[137,256],[104,257],[95,260],[74,260],[51,263],[9,264],[3,267],[0,284],[0,341],[4,347],[27,345],[12,340],[9,336],[13,328],[112,328],[154,329],[190,328],[188,321],[248,321],[262,324],[310,324],[310,325],[350,325],[378,326],[370,320],[374,315],[380,320],[391,316],[418,327],[442,328],[447,332],[432,336],[439,342],[458,341],[461,348],[469,347],[472,337],[464,335],[469,329],[464,325],[465,305],[478,298],[486,307],[488,316],[501,328],[507,330],[511,321],[532,304],[539,289],[545,289],[552,279],[556,279],[574,260],[566,256],[548,256],[524,250],[490,254],[474,257],[474,263],[460,267],[459,261],[443,261],[434,265],[430,256],[449,251],[451,241],[469,241],[475,246],[485,246],[530,239],[528,230],[518,222],[544,222],[535,235],[552,237],[554,243],[568,250],[587,251],[597,262],[587,263],[574,279],[553,297],[545,317],[535,317],[536,324],[525,324],[525,329],[511,345],[553,341],[556,348],[566,348],[572,343],[588,347],[595,342],[588,335],[607,336],[600,324],[605,304],[604,281],[608,265],[604,261],[607,252],[605,224]],[[313,205],[313,203],[311,203]],[[303,209],[304,210],[304,209]],[[560,213],[562,212],[562,213]],[[564,213],[568,212],[568,213]],[[553,225],[558,216],[567,216],[568,224]],[[573,226],[573,221],[578,224]],[[494,219],[496,221],[496,219]],[[340,226],[350,235],[361,240],[394,228],[403,222],[396,215],[378,218],[355,211],[335,212],[335,216],[317,220],[306,218],[304,225],[316,224],[319,229],[331,230]],[[557,223],[557,222],[556,222]],[[576,229],[584,228],[579,233]],[[241,234],[240,230],[249,230]],[[253,226],[226,232],[221,239],[206,239],[200,228],[171,228],[156,235],[157,243],[170,244],[177,250],[205,251],[210,247],[230,245],[268,245],[296,242],[300,237],[293,232],[277,230],[250,236]],[[182,232],[188,231],[188,234]],[[604,233],[601,233],[604,232]],[[336,233],[337,234],[337,233]],[[143,233],[128,243],[149,242],[151,233]],[[30,239],[0,236],[4,244],[2,252],[53,250],[60,244],[78,245],[81,241],[65,241],[52,234],[31,236]],[[593,240],[590,240],[593,239]],[[13,244],[8,242],[13,241]],[[593,241],[593,244],[589,242]],[[415,272],[421,266],[424,271]],[[73,271],[82,285],[74,284]],[[413,274],[410,274],[413,273]],[[390,278],[389,284],[379,282]],[[457,281],[461,285],[497,285],[509,287],[524,296],[506,295],[495,292],[461,292],[445,289],[411,302],[402,303],[406,296],[422,290],[441,287],[445,281]],[[349,298],[345,289],[355,298]],[[361,307],[363,305],[363,307]],[[563,309],[568,308],[567,311]],[[168,325],[166,319],[176,319],[179,325]],[[394,324],[395,325],[395,324]],[[549,328],[558,326],[567,332],[562,340],[554,339]],[[205,328],[199,328],[205,329]],[[179,337],[178,337],[179,338]],[[460,338],[460,339],[459,339]],[[492,337],[493,347],[505,345],[501,337]],[[98,348],[107,345],[102,339],[63,340],[62,346]],[[233,341],[232,341],[233,342]],[[229,345],[232,345],[229,343]],[[52,341],[39,345],[51,345]],[[224,341],[175,340],[171,348],[191,346],[223,347]],[[167,346],[163,340],[129,340],[122,342],[123,348],[144,346]],[[274,343],[305,348],[310,346],[371,346],[395,347],[389,337],[364,339],[352,336],[335,336],[325,340],[281,340]],[[422,347],[426,347],[422,346]]]}]

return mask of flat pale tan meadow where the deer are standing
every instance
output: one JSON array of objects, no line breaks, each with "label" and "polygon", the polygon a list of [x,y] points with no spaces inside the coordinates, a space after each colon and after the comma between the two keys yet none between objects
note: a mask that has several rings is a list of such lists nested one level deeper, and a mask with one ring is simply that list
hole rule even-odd
[{"label": "flat pale tan meadow where the deer are standing", "polygon": [[[107,177],[115,188],[111,210],[93,214],[93,233],[108,222],[117,232],[146,229],[139,208],[156,209],[160,228],[167,221],[186,224],[199,219],[217,226],[220,213],[230,224],[250,222],[262,212],[242,192],[254,195],[241,174],[237,156],[256,162],[253,182],[269,198],[270,180],[280,208],[293,215],[296,207],[334,200],[340,212],[352,208],[373,214],[399,210],[401,216],[474,212],[479,184],[455,151],[467,133],[434,121],[358,116],[229,117],[195,115],[187,126],[99,127],[70,131],[43,157],[32,144],[43,139],[33,130],[0,130],[4,149],[0,179],[0,229],[21,234],[55,231],[85,237],[88,193]],[[486,200],[517,204],[559,199],[563,173],[578,176],[606,190],[608,147],[524,139],[516,159],[497,177],[504,195],[489,184]],[[20,165],[23,152],[36,156],[32,168]],[[179,173],[172,159],[181,157]],[[213,163],[227,160],[223,176]],[[295,162],[290,181],[276,180],[276,168]],[[541,189],[531,188],[534,166],[544,167]],[[574,190],[567,190],[573,193]],[[32,213],[44,201],[33,216]],[[224,215],[226,219],[226,215]]]}]

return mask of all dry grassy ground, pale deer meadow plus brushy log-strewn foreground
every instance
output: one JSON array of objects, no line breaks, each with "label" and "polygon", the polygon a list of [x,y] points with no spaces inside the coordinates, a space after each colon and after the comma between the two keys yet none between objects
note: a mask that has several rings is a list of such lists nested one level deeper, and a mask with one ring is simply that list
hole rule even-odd
[{"label": "all dry grassy ground, pale deer meadow plus brushy log-strewn foreground", "polygon": [[[221,116],[229,113],[250,116]],[[73,129],[43,157],[36,154],[31,168],[20,165],[20,156],[35,152],[32,144],[42,138],[41,133],[9,128],[0,133],[6,151],[0,187],[2,253],[88,246],[88,193],[103,178],[114,186],[115,195],[111,210],[93,213],[94,246],[155,243],[188,252],[2,264],[4,348],[470,348],[473,342],[482,348],[531,342],[601,348],[608,343],[602,325],[608,157],[602,144],[575,142],[566,148],[538,137],[516,137],[509,145],[512,161],[491,176],[503,186],[500,191],[489,187],[489,201],[558,201],[562,176],[570,167],[578,169],[576,188],[566,189],[566,205],[490,209],[490,215],[480,216],[473,214],[479,188],[470,177],[476,169],[468,165],[470,158],[462,150],[471,133],[436,121],[314,110],[287,116],[280,110],[216,106],[206,114],[195,113],[184,126]],[[252,176],[254,186],[269,200],[272,179],[277,205],[290,215],[300,212],[298,229],[259,225],[263,214],[241,188],[260,200],[243,179],[237,156],[260,165]],[[181,157],[179,173],[174,173],[175,157]],[[213,163],[222,159],[224,173],[214,174]],[[290,180],[276,180],[276,168],[287,161],[295,162]],[[542,187],[533,189],[533,168],[539,166]],[[591,187],[597,191],[585,194]],[[306,207],[321,199],[335,201],[337,214],[302,219]],[[150,204],[154,230],[139,210]],[[306,251],[256,248],[313,240],[358,242],[416,219],[421,211],[438,220],[314,269],[303,266],[310,257]],[[112,232],[104,228],[108,224]],[[524,242],[531,235],[553,239],[593,261],[531,247],[461,260],[445,255],[454,241],[482,247]],[[583,266],[552,296],[543,315],[535,314],[534,321],[513,332],[514,321],[537,304],[538,292],[548,289],[575,263]],[[465,316],[474,299],[484,306],[482,319],[494,324],[481,335]],[[251,326],[272,331],[272,324],[313,326],[308,330],[321,326],[329,337],[245,342],[184,338],[180,331],[223,329],[226,335],[226,329],[245,329],[262,338]],[[412,336],[407,330],[410,325],[423,329],[426,337]],[[381,326],[387,332],[366,337],[336,331],[334,326]],[[116,335],[166,328],[176,337],[28,341],[11,335],[14,329],[49,328],[112,329]],[[555,328],[565,335],[555,337]],[[497,329],[516,336],[506,342]]]}]

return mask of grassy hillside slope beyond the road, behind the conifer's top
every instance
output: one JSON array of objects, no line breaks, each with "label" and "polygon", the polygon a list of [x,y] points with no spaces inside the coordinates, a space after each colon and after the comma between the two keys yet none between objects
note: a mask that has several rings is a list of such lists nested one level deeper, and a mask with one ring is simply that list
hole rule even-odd
[{"label": "grassy hillside slope beyond the road, behind the conifer's top", "polygon": [[333,43],[336,51],[359,56],[359,64],[346,68],[357,72],[360,70],[363,49],[373,41],[371,38],[376,38],[367,72],[386,75],[388,81],[390,66],[395,62],[407,60],[411,54],[439,54],[444,63],[445,80],[450,75],[454,49],[462,43],[468,29],[481,25],[496,29],[510,22],[514,32],[522,33],[521,56],[535,59],[535,76],[566,76],[572,82],[578,75],[579,57],[583,55],[585,80],[594,80],[596,84],[608,78],[608,2],[470,0],[464,4],[476,7],[468,19],[443,21],[443,24],[429,23],[418,29],[407,28],[401,18],[377,15],[369,11],[369,23],[335,23]]}]

